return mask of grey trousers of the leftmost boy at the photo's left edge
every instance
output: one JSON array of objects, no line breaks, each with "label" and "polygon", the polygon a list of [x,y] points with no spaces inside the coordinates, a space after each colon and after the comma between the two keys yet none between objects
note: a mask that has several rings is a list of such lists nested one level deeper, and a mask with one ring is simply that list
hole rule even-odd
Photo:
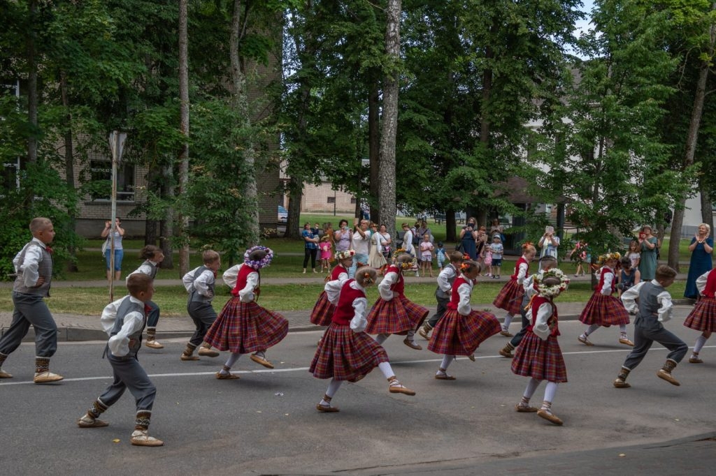
[{"label": "grey trousers of the leftmost boy at the photo's left edge", "polygon": [[52,357],[57,352],[57,324],[54,323],[47,304],[39,294],[13,292],[10,328],[0,339],[0,352],[9,355],[22,342],[30,326],[35,329],[35,355]]}]

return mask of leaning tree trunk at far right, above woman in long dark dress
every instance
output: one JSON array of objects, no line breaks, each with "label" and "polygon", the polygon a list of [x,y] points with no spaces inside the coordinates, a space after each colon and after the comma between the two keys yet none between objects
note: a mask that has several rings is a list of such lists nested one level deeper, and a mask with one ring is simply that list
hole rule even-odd
[{"label": "leaning tree trunk at far right, above woman in long dark dress", "polygon": [[[716,2],[711,4],[711,10],[716,10]],[[716,23],[710,24],[709,44],[707,46],[707,59],[701,61],[699,69],[699,79],[696,83],[696,94],[694,95],[694,107],[691,111],[691,122],[689,124],[689,132],[686,138],[686,147],[684,149],[684,165],[686,169],[694,163],[694,155],[696,152],[696,144],[699,137],[699,127],[701,124],[701,116],[704,111],[704,98],[706,96],[706,82],[709,76],[709,67],[711,58],[714,55],[714,43],[716,41]],[[674,209],[674,219],[672,219],[671,239],[669,239],[669,266],[679,271],[679,241],[681,239],[681,227],[684,224],[684,205],[686,204],[686,195],[679,197],[679,201]]]}]

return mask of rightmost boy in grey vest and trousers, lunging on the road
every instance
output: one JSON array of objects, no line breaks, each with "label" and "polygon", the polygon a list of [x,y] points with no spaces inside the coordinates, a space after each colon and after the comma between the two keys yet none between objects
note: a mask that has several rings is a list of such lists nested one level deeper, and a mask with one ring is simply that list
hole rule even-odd
[{"label": "rightmost boy in grey vest and trousers, lunging on the road", "polygon": [[669,349],[667,361],[664,362],[664,367],[657,372],[657,377],[672,385],[681,385],[672,376],[672,371],[684,358],[689,346],[672,332],[664,329],[662,324],[672,316],[671,294],[666,288],[674,283],[675,277],[676,270],[662,264],[657,267],[654,279],[640,282],[621,294],[621,302],[624,302],[624,306],[629,309],[630,313],[637,314],[637,319],[634,319],[634,349],[627,355],[624,365],[621,365],[619,375],[614,380],[614,387],[631,387],[626,382],[629,372],[632,372],[634,367],[644,360],[654,342]]}]

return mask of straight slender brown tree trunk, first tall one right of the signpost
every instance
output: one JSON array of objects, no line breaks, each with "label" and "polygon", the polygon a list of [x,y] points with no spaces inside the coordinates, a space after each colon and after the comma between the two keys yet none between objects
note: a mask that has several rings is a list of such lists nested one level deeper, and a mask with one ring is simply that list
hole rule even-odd
[{"label": "straight slender brown tree trunk, first tall one right of the signpost", "polygon": [[[179,194],[185,196],[189,185],[189,59],[187,32],[187,2],[179,0],[179,99],[180,99],[180,133],[185,142],[179,152]],[[182,239],[179,249],[179,277],[189,272],[189,217],[180,212],[177,217],[178,235]]]}]

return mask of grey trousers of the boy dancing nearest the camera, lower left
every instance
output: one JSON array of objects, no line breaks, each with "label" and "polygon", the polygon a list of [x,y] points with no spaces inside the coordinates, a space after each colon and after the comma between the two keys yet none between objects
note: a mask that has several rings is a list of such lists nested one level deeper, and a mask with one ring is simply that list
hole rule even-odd
[{"label": "grey trousers of the boy dancing nearest the camera, lower left", "polygon": [[115,378],[112,385],[107,387],[100,400],[111,407],[117,400],[120,400],[125,390],[129,389],[133,397],[137,411],[152,410],[154,398],[157,395],[157,387],[154,386],[147,372],[139,364],[136,357],[115,357],[107,351],[107,360],[112,365],[112,374]]}]

